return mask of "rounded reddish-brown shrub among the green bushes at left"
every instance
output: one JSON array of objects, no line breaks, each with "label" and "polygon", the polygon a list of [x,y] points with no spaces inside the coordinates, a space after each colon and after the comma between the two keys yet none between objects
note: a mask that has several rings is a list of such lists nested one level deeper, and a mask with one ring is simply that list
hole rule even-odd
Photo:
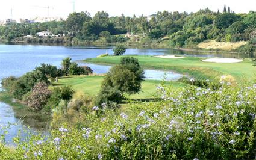
[{"label": "rounded reddish-brown shrub among the green bushes at left", "polygon": [[40,111],[46,105],[51,91],[45,82],[38,82],[34,85],[32,93],[27,97],[27,104],[34,111]]}]

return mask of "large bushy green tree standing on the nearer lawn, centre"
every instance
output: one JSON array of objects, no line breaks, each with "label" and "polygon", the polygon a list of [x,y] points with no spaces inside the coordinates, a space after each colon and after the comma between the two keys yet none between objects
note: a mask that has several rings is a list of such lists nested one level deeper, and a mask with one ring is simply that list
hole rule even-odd
[{"label": "large bushy green tree standing on the nearer lawn, centre", "polygon": [[144,72],[137,58],[123,57],[120,64],[112,67],[105,76],[96,103],[120,102],[124,93],[138,93],[143,78]]}]

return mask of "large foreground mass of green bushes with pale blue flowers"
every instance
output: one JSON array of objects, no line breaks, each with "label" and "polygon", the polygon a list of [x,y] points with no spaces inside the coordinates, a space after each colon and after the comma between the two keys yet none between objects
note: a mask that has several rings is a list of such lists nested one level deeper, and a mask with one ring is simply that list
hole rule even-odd
[{"label": "large foreground mass of green bushes with pale blue flowers", "polygon": [[0,144],[0,159],[254,159],[255,85],[219,90],[157,87],[160,102],[128,112],[93,108],[85,124],[60,125],[50,137]]}]

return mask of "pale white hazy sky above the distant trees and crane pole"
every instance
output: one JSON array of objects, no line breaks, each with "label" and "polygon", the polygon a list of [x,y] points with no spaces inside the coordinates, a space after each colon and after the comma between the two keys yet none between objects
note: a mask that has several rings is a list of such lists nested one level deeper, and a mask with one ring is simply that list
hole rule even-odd
[{"label": "pale white hazy sky above the distant trees and crane pole", "polygon": [[[72,1],[75,1],[75,11],[89,11],[93,16],[96,11],[107,11],[110,16],[149,15],[157,11],[198,11],[200,8],[210,8],[213,11],[223,10],[223,5],[230,5],[236,13],[248,13],[256,10],[256,0],[1,0],[0,19],[30,18],[36,16],[60,16],[66,18],[73,12]],[[43,8],[46,7],[46,8]]]}]

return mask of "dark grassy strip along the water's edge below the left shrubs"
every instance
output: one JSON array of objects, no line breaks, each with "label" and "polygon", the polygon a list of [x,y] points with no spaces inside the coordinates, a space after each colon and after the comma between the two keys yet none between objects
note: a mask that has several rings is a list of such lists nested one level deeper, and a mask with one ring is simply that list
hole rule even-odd
[{"label": "dark grassy strip along the water's edge below the left shrubs", "polygon": [[27,105],[14,100],[13,97],[7,92],[0,92],[0,101],[7,103],[12,106],[14,111],[14,116],[23,120],[26,125],[34,128],[48,128],[49,122],[51,120],[51,115],[45,114],[43,112],[34,112],[28,108]]}]

